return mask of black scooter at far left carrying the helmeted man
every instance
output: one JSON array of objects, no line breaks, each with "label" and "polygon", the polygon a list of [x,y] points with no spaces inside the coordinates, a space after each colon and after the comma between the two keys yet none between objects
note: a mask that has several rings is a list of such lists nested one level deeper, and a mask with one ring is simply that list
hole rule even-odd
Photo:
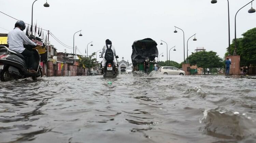
[{"label": "black scooter at far left carrying the helmeted man", "polygon": [[0,46],[0,79],[2,82],[26,77],[32,77],[33,80],[37,80],[42,76],[43,68],[40,65],[40,54],[32,48],[34,47],[31,47],[31,51],[34,54],[33,68],[37,73],[28,72],[27,58],[22,54],[12,51],[5,46]]}]

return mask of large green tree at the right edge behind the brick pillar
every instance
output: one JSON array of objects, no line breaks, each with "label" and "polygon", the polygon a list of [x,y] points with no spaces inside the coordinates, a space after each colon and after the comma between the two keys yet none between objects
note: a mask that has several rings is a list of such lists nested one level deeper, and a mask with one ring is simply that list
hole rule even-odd
[{"label": "large green tree at the right edge behind the brick pillar", "polygon": [[[240,65],[256,65],[256,28],[250,29],[242,34],[242,38],[237,38],[236,54],[240,55]],[[228,49],[227,49],[228,51]],[[234,54],[234,39],[230,45],[230,54]],[[228,55],[228,52],[225,56]]]}]

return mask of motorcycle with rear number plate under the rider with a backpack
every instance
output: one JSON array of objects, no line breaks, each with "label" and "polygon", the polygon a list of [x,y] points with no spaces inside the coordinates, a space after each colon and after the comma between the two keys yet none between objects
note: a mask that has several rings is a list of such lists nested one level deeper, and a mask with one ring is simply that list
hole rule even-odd
[{"label": "motorcycle with rear number plate under the rider with a backpack", "polygon": [[[103,57],[101,57],[103,58]],[[116,62],[117,62],[118,56],[116,56]],[[102,63],[102,61],[101,61]],[[100,68],[102,68],[102,64],[100,64]],[[118,74],[118,64],[117,67],[113,64],[113,61],[106,61],[105,68],[101,72],[103,74],[104,78],[116,78]]]}]

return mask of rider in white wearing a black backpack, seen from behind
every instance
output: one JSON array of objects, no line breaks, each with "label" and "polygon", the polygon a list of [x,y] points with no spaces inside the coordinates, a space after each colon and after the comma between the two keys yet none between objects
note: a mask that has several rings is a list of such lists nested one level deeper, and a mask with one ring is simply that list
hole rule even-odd
[{"label": "rider in white wearing a black backpack, seen from behind", "polygon": [[[104,57],[103,54],[105,53]],[[106,39],[106,45],[104,45],[104,47],[102,48],[101,51],[101,57],[103,57],[102,59],[102,68],[104,69],[104,66],[106,64],[106,61],[113,61],[113,64],[117,67],[117,63],[115,61],[115,57],[116,57],[116,51],[114,46],[112,45],[112,42],[109,39]]]}]

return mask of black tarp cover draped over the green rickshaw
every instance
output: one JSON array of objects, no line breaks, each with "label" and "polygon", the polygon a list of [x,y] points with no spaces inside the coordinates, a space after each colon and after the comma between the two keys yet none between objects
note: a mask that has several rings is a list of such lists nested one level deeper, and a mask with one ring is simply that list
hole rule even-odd
[{"label": "black tarp cover draped over the green rickshaw", "polygon": [[132,65],[135,66],[137,63],[144,62],[146,57],[148,57],[150,61],[153,61],[155,57],[158,57],[158,49],[156,46],[156,41],[152,40],[151,38],[134,41],[131,46]]}]

